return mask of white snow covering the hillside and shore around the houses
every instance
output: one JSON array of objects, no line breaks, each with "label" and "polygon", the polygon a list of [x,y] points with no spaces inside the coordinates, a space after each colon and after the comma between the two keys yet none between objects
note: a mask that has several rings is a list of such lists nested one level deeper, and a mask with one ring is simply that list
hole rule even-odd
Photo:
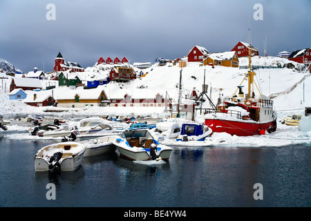
[{"label": "white snow covering the hillside and shore around the houses", "polygon": [[[256,60],[257,59],[257,60]],[[263,61],[265,59],[265,61]],[[287,64],[287,59],[279,58],[254,58],[254,65],[275,64],[276,61],[283,64]],[[241,61],[242,62],[242,61]],[[297,65],[297,64],[294,64]],[[104,66],[86,68],[88,76],[90,72],[107,74],[109,68]],[[102,86],[106,91],[108,97],[113,96],[115,91],[130,91],[131,93],[140,93],[140,88],[149,88],[156,90],[159,93],[165,93],[168,91],[169,96],[175,99],[178,95],[178,84],[180,79],[181,68],[178,65],[167,64],[166,66],[158,66],[154,64],[151,68],[144,69],[144,73],[148,73],[141,79],[135,79],[130,83],[115,84],[109,83]],[[261,88],[263,95],[271,95],[272,93],[281,93],[287,91],[296,82],[299,82],[308,73],[299,72],[296,69],[290,68],[272,68],[272,69],[258,69],[255,70],[255,81],[258,88]],[[205,84],[209,86],[208,95],[210,96],[214,104],[217,103],[219,96],[231,97],[236,90],[236,86],[241,84],[241,81],[247,73],[246,69],[239,68],[227,68],[223,66],[200,66],[199,63],[191,62],[187,63],[185,68],[182,68],[182,87],[184,90],[198,90],[200,94],[202,90],[202,84],[205,75]],[[97,117],[105,115],[124,115],[124,116],[153,116],[153,117],[165,117],[167,113],[164,113],[164,107],[95,107],[87,106],[86,108],[66,108],[66,111],[60,113],[45,113],[46,107],[32,107],[24,104],[20,101],[12,101],[8,99],[8,88],[11,79],[0,79],[0,115],[4,119],[10,119],[15,117],[26,117],[27,115],[52,115],[53,117],[62,117],[65,119],[71,119],[73,117]],[[6,91],[5,86],[6,85]],[[247,88],[247,80],[243,81],[242,86]],[[221,88],[221,90],[220,90]],[[55,88],[55,90],[64,90],[64,88]],[[245,89],[246,90],[246,89]],[[245,91],[246,92],[246,91]],[[55,92],[56,93],[56,92]],[[256,93],[256,90],[255,90]],[[279,95],[273,99],[274,108],[278,113],[278,119],[281,120],[288,114],[301,114],[304,113],[305,107],[311,107],[311,77],[307,77],[305,81],[298,84],[294,90],[288,94]],[[205,106],[209,107],[208,102],[205,102]],[[64,109],[64,108],[63,108]],[[196,116],[200,117],[200,116]],[[16,126],[8,126],[10,131],[20,131],[21,128]],[[0,131],[2,133],[3,131]],[[13,135],[8,135],[13,136]],[[22,137],[22,136],[19,136]],[[205,142],[199,142],[190,144],[187,142],[187,146],[286,146],[290,144],[305,143],[310,144],[311,134],[310,131],[305,129],[299,131],[298,126],[286,126],[285,124],[278,124],[277,131],[272,134],[256,135],[252,137],[236,137],[227,134],[215,133],[211,140]],[[26,139],[26,137],[23,137]],[[167,144],[170,144],[169,142]]]}]

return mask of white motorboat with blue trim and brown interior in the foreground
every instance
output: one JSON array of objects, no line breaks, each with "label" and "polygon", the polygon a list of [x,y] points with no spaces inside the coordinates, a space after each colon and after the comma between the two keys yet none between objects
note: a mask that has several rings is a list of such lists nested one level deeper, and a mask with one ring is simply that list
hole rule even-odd
[{"label": "white motorboat with blue trim and brown interior in the foreground", "polygon": [[124,131],[113,144],[129,160],[169,160],[172,148],[159,144],[149,130]]}]

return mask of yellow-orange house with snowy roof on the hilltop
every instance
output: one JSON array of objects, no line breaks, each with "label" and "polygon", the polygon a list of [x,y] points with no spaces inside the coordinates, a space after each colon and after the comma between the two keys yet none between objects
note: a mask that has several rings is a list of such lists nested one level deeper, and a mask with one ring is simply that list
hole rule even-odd
[{"label": "yellow-orange house with snowy roof on the hilltop", "polygon": [[212,53],[204,59],[203,64],[238,68],[238,55],[236,51]]}]

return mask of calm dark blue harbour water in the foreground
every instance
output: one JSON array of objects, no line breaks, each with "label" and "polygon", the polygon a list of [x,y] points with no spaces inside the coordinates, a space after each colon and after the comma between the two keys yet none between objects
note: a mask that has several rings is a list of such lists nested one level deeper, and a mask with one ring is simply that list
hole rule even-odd
[{"label": "calm dark blue harbour water in the foreground", "polygon": [[[84,157],[73,172],[35,172],[35,153],[53,142],[0,135],[0,206],[311,206],[310,145],[174,146],[158,166],[113,153]],[[56,200],[46,199],[48,183]],[[256,183],[263,200],[254,200]]]}]

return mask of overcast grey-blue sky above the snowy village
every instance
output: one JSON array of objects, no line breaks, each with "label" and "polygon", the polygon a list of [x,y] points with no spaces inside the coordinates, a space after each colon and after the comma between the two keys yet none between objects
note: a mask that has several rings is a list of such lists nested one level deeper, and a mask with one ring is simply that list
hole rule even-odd
[{"label": "overcast grey-blue sky above the snowy village", "polygon": [[[55,20],[46,19],[54,15],[48,3]],[[194,45],[232,50],[248,41],[249,26],[259,54],[267,36],[267,55],[276,56],[311,47],[310,9],[310,0],[0,0],[0,59],[24,73],[43,64],[52,71],[59,51],[84,68],[100,57],[154,63]]]}]

